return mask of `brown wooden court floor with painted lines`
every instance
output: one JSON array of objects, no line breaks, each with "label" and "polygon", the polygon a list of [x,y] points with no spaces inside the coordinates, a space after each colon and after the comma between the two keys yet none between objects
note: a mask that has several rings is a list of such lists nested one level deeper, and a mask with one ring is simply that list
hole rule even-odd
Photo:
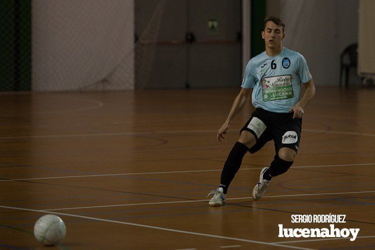
[{"label": "brown wooden court floor with painted lines", "polygon": [[[251,198],[273,143],[247,154],[227,204],[209,207],[226,157],[216,131],[239,88],[0,94],[0,249],[44,249],[44,214],[67,234],[45,249],[374,249],[375,90],[317,87],[292,168]],[[282,238],[293,215],[346,215],[349,238]]]}]

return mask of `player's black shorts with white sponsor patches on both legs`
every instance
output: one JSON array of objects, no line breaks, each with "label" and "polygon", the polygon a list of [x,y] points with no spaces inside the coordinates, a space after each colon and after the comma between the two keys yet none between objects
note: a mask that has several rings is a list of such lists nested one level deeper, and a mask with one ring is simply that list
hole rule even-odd
[{"label": "player's black shorts with white sponsor patches on both legs", "polygon": [[276,153],[281,148],[298,151],[301,139],[302,118],[293,119],[292,113],[275,113],[257,108],[241,129],[252,133],[257,142],[249,149],[254,154],[267,142],[274,140]]}]

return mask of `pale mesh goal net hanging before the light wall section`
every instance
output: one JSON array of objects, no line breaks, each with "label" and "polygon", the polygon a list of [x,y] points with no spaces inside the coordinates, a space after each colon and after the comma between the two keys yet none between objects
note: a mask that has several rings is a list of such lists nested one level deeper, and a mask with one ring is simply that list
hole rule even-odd
[{"label": "pale mesh goal net hanging before the light wall section", "polygon": [[[33,0],[32,90],[146,86],[165,0]],[[137,16],[134,16],[137,13]]]}]

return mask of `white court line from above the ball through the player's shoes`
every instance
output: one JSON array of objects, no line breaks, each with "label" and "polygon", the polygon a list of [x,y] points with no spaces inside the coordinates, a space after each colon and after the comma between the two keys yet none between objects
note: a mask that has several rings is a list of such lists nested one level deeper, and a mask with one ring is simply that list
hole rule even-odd
[{"label": "white court line from above the ball through the player's shoes", "polygon": [[[263,196],[264,198],[275,197],[293,197],[293,196],[316,196],[316,195],[343,195],[343,194],[362,194],[362,193],[375,193],[375,191],[358,191],[358,192],[342,192],[342,193],[320,193],[320,194],[299,194],[299,195],[269,195]],[[243,200],[252,199],[252,197],[228,198],[227,200]],[[175,202],[150,202],[150,203],[134,203],[134,204],[118,204],[118,205],[103,205],[91,207],[76,207],[76,208],[60,208],[60,209],[44,209],[43,211],[60,211],[60,210],[73,210],[73,209],[89,209],[89,208],[110,208],[110,207],[126,207],[126,206],[141,206],[141,205],[161,205],[171,203],[189,203],[189,202],[208,202],[209,200],[195,200],[195,201],[175,201]]]}]

